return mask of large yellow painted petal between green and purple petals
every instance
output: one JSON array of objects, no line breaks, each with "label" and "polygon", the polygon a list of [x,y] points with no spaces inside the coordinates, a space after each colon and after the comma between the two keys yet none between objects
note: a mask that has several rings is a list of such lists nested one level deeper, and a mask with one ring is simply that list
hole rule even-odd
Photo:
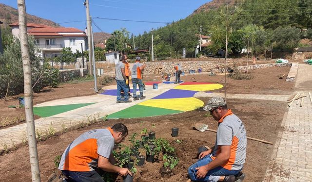
[{"label": "large yellow painted petal between green and purple petals", "polygon": [[178,111],[192,111],[204,105],[204,102],[196,98],[177,99],[149,99],[139,105],[173,109]]}]

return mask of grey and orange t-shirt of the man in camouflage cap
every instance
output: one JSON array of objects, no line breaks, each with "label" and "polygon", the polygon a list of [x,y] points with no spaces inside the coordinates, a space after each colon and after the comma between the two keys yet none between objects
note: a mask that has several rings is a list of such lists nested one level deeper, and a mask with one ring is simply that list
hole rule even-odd
[{"label": "grey and orange t-shirt of the man in camouflage cap", "polygon": [[223,121],[219,123],[215,149],[211,154],[213,160],[220,153],[218,145],[231,146],[230,159],[227,163],[221,165],[222,167],[228,170],[239,170],[243,167],[247,147],[246,130],[243,122],[234,114],[224,117]]}]

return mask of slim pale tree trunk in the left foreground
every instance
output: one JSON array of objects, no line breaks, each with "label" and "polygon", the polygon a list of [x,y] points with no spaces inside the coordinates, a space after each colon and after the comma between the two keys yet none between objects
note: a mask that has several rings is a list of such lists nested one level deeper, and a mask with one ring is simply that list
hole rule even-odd
[{"label": "slim pale tree trunk in the left foreground", "polygon": [[25,0],[17,0],[17,2],[19,9],[20,49],[24,71],[25,115],[27,123],[31,176],[33,182],[40,182],[39,161],[38,161],[35,122],[33,113],[31,62],[28,50],[27,29],[26,29],[26,7]]}]

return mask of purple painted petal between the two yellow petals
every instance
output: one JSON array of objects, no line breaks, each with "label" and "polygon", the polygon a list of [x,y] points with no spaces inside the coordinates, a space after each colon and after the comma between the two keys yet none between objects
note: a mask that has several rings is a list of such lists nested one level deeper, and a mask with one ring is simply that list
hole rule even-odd
[{"label": "purple painted petal between the two yellow petals", "polygon": [[156,96],[153,99],[176,99],[176,98],[191,98],[197,91],[192,90],[179,90],[179,89],[170,89],[167,92]]}]

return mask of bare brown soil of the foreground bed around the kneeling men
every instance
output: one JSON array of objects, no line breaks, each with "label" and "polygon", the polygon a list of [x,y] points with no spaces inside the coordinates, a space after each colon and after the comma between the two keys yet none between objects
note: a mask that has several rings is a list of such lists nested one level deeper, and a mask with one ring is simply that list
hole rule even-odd
[{"label": "bare brown soil of the foreground bed around the kneeling men", "polygon": [[[205,102],[208,100],[208,98],[201,99]],[[232,99],[228,100],[228,105],[229,108],[232,108],[234,114],[239,116],[244,122],[248,136],[275,142],[277,132],[281,129],[280,124],[286,109],[286,103]],[[205,116],[206,113],[204,111],[194,110],[170,116],[108,120],[83,129],[54,136],[38,143],[41,179],[42,181],[46,181],[52,172],[58,171],[54,166],[53,160],[55,156],[62,154],[73,138],[94,128],[109,127],[115,123],[122,122],[127,125],[129,136],[133,132],[139,133],[141,129],[147,128],[148,130],[156,131],[156,138],[162,137],[170,140],[171,144],[176,147],[177,156],[180,160],[172,173],[164,177],[161,177],[161,173],[159,172],[160,167],[163,165],[161,159],[154,164],[145,163],[143,167],[137,168],[135,182],[184,182],[187,177],[187,168],[196,162],[195,156],[198,147],[214,145],[214,132],[198,132],[193,130],[195,122],[206,123],[212,129],[217,128],[217,122],[212,117]],[[155,124],[155,127],[153,127],[153,124]],[[171,137],[172,127],[179,128],[179,135],[176,138]],[[129,143],[129,136],[126,138],[125,143]],[[177,144],[176,139],[182,143]],[[272,150],[273,145],[248,140],[247,159],[243,170],[247,175],[245,178],[246,182],[262,181]],[[31,181],[28,156],[27,147],[0,156],[0,181]]]}]

